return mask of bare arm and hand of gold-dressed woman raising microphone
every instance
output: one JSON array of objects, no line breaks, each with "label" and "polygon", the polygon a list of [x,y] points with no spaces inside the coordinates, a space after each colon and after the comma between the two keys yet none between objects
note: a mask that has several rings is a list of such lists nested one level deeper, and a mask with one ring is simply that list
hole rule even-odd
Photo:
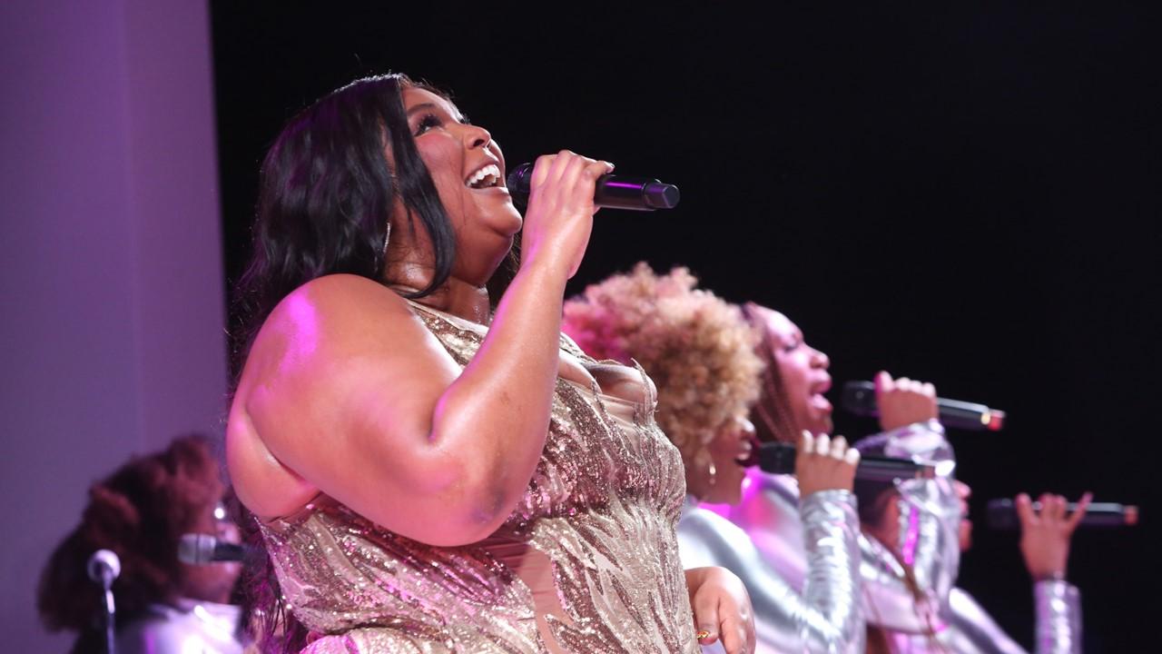
[{"label": "bare arm and hand of gold-dressed woman raising microphone", "polygon": [[271,518],[321,491],[440,546],[495,531],[540,457],[565,282],[588,241],[594,180],[608,170],[568,152],[538,161],[525,262],[462,371],[374,282],[331,276],[288,296],[231,407],[227,456],[243,503]]}]

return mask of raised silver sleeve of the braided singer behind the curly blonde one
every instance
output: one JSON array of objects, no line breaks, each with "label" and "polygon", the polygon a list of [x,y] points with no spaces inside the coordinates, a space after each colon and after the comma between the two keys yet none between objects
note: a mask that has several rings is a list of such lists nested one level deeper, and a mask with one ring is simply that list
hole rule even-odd
[{"label": "raised silver sleeve of the braided singer behind the curly blonde one", "polygon": [[[911,567],[920,602],[904,582],[899,562],[878,543],[863,542],[865,597],[868,620],[880,626],[926,633],[944,627],[948,593],[960,569],[960,502],[953,479],[956,458],[935,420],[917,422],[863,439],[865,454],[883,454],[934,463],[932,479],[906,479],[901,495],[899,542],[896,553]],[[870,541],[870,539],[868,539]]]}]

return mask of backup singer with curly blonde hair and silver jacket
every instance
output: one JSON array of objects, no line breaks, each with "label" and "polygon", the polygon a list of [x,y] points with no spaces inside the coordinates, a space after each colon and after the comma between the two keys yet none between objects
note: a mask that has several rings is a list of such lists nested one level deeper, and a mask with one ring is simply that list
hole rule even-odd
[{"label": "backup singer with curly blonde hair and silver jacket", "polygon": [[804,529],[795,546],[810,562],[805,588],[792,588],[741,529],[700,506],[737,504],[744,493],[754,436],[748,414],[762,361],[739,308],[696,285],[687,269],[659,276],[639,263],[569,299],[562,329],[591,356],[637,363],[657,384],[657,420],[686,468],[679,553],[688,568],[724,566],[743,578],[758,625],[756,652],[862,652],[859,521],[851,492],[859,457],[842,438],[799,440],[797,519]]}]

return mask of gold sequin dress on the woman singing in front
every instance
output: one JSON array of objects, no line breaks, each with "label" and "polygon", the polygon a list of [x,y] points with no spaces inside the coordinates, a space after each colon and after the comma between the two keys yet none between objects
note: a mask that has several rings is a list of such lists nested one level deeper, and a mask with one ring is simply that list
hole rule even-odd
[{"label": "gold sequin dress on the woman singing in front", "polygon": [[[414,306],[466,365],[485,328]],[[285,602],[320,634],[303,652],[696,653],[675,536],[686,481],[653,404],[558,378],[524,497],[473,545],[416,542],[324,496],[263,525]]]}]

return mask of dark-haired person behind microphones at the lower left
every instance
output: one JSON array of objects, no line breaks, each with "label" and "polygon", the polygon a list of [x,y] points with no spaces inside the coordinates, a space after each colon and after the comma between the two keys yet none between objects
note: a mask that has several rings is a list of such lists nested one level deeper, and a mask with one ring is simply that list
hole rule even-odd
[{"label": "dark-haired person behind microphones at the lower left", "polygon": [[50,631],[77,632],[74,654],[103,652],[101,591],[86,566],[99,549],[121,560],[113,582],[119,654],[239,654],[248,641],[242,607],[230,604],[238,563],[187,566],[185,533],[237,542],[223,506],[217,460],[200,435],[136,456],[93,484],[80,524],[41,574],[37,609]]}]

